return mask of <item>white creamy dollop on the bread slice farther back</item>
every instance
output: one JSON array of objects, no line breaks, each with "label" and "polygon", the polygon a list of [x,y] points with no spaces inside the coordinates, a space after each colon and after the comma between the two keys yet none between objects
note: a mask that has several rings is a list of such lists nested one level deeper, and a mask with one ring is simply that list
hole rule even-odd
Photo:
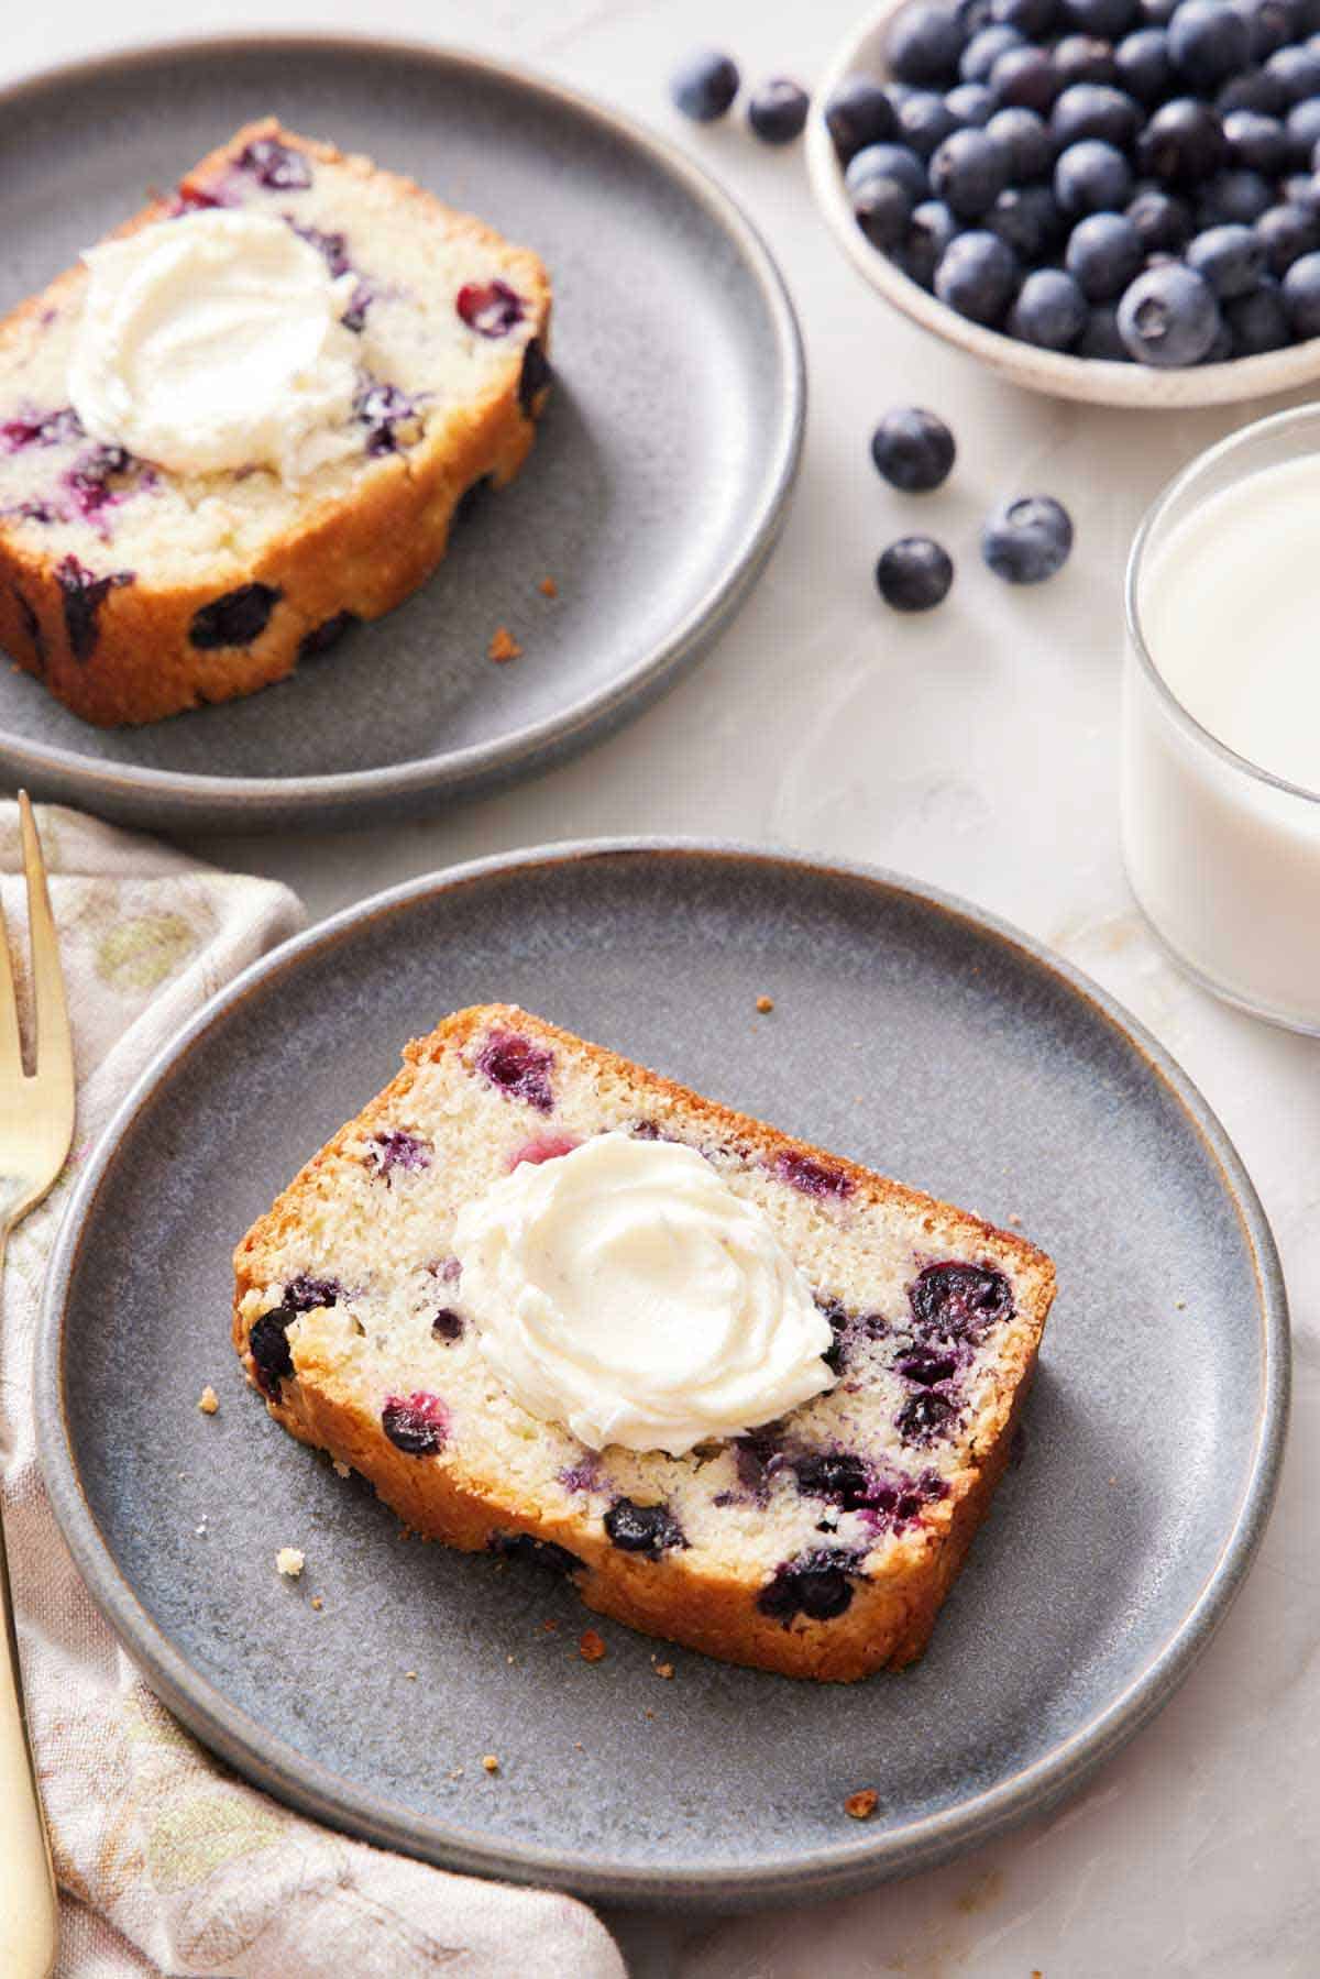
[{"label": "white creamy dollop on the bread slice farther back", "polygon": [[354,277],[332,279],[283,220],[184,214],[83,261],[69,400],[93,439],[176,475],[259,465],[285,481],[350,449]]}]

